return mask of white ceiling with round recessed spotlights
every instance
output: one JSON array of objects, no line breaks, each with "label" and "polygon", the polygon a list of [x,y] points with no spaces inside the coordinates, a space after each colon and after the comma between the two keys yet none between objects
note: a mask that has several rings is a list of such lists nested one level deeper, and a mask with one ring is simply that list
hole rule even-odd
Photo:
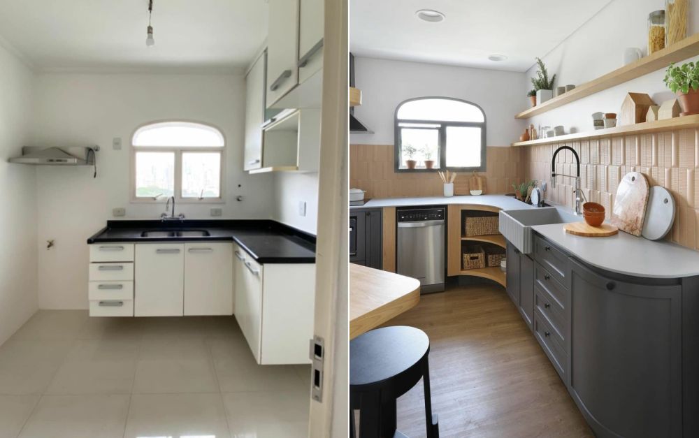
[{"label": "white ceiling with round recessed spotlights", "polygon": [[[349,50],[366,57],[526,71],[535,57],[543,57],[610,1],[349,0]],[[419,20],[419,9],[438,10],[446,19]],[[490,61],[491,54],[507,59]]]}]

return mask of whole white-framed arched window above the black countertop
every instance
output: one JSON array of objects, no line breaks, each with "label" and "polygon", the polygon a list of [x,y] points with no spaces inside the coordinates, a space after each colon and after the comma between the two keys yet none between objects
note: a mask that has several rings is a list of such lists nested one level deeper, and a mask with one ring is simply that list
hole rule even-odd
[{"label": "whole white-framed arched window above the black countertop", "polygon": [[131,139],[132,199],[201,202],[221,200],[223,133],[193,122],[157,122]]}]

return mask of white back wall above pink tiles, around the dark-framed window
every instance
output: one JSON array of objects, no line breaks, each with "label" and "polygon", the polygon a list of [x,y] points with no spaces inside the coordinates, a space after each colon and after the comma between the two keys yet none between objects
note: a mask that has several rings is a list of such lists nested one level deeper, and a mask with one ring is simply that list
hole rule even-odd
[{"label": "white back wall above pink tiles, around the dark-framed window", "polygon": [[480,105],[489,146],[508,146],[524,131],[524,122],[514,119],[526,98],[522,73],[356,57],[354,75],[362,92],[362,104],[354,108],[354,115],[374,133],[352,134],[350,145],[394,144],[396,106],[421,96],[461,98]]}]

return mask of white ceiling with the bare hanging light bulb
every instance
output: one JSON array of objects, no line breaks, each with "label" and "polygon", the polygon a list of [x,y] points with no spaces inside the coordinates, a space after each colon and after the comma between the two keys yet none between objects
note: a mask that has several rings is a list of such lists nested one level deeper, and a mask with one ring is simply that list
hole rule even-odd
[{"label": "white ceiling with the bare hanging light bulb", "polygon": [[267,35],[266,0],[0,0],[3,45],[40,71],[236,71]]}]

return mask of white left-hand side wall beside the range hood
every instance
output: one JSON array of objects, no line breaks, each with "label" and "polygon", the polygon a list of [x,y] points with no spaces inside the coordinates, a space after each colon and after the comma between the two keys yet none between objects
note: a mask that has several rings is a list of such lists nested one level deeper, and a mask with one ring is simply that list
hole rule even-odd
[{"label": "white left-hand side wall beside the range hood", "polygon": [[36,169],[7,162],[26,144],[33,81],[0,46],[0,344],[37,309]]}]

